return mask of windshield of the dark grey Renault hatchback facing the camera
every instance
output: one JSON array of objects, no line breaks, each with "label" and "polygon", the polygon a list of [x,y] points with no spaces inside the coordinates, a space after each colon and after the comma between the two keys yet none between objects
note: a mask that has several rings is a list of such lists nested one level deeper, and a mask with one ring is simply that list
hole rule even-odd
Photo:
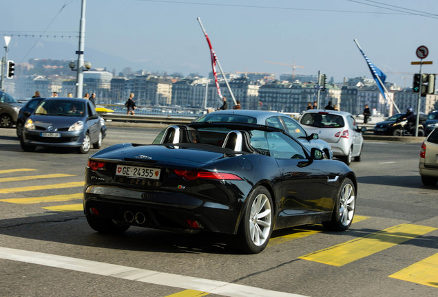
[{"label": "windshield of the dark grey Renault hatchback facing the camera", "polygon": [[48,100],[43,101],[35,109],[37,115],[82,116],[85,104],[77,101]]}]

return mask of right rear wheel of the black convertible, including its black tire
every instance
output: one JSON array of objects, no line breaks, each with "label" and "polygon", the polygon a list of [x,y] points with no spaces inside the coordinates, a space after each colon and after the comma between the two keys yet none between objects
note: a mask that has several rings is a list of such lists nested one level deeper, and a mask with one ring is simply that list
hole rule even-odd
[{"label": "right rear wheel of the black convertible, including its black tire", "polygon": [[258,254],[267,247],[272,229],[271,194],[267,188],[257,186],[247,199],[238,234],[233,236],[233,246],[247,254]]}]

